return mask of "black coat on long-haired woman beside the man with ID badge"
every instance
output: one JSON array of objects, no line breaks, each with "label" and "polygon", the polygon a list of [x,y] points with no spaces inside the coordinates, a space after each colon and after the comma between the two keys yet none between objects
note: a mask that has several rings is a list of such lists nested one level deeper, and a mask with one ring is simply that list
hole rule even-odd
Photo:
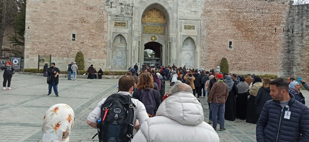
[{"label": "black coat on long-haired woman beside the man with ID badge", "polygon": [[262,109],[266,103],[266,101],[271,100],[271,96],[269,95],[270,88],[261,87],[257,92],[255,99],[256,113],[261,114]]}]

